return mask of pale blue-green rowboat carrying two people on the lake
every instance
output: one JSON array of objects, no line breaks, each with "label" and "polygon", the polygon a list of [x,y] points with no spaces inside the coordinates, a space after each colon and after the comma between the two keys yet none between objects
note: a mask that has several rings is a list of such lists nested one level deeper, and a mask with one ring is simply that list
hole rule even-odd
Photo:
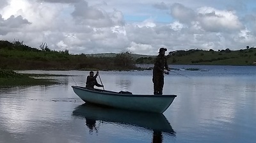
[{"label": "pale blue-green rowboat carrying two people on the lake", "polygon": [[163,113],[177,95],[129,94],[102,89],[86,89],[72,86],[74,93],[86,103],[93,103],[118,109],[140,110]]}]

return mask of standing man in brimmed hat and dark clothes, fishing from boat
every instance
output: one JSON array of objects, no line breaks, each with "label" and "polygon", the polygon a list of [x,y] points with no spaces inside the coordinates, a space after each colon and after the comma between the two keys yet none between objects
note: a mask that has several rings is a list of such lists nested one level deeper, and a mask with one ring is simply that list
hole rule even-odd
[{"label": "standing man in brimmed hat and dark clothes, fishing from boat", "polygon": [[166,48],[159,49],[159,55],[155,59],[152,79],[154,83],[154,94],[163,94],[164,73],[169,74],[169,72],[164,71],[164,69],[170,71],[167,59],[164,56],[166,50]]}]

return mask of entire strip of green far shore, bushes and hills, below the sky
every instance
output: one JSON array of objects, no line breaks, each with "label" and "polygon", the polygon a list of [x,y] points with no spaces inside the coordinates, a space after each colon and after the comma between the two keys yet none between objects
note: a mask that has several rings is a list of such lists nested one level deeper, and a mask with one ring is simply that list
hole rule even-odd
[{"label": "entire strip of green far shore, bushes and hills, below the sky", "polygon": [[[256,49],[176,50],[167,54],[168,64],[256,65]],[[157,55],[157,53],[156,53]],[[145,70],[136,64],[154,64],[156,56],[132,54],[69,54],[49,47],[31,48],[19,41],[0,40],[0,69],[6,70]]]}]

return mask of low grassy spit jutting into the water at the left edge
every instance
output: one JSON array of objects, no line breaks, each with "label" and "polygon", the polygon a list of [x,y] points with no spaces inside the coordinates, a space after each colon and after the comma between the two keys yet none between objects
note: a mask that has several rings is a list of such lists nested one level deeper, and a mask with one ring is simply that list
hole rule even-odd
[{"label": "low grassy spit jutting into the water at the left edge", "polygon": [[11,70],[0,70],[0,86],[38,86],[58,84],[56,80],[35,79],[30,76],[38,77],[40,75],[21,74]]}]

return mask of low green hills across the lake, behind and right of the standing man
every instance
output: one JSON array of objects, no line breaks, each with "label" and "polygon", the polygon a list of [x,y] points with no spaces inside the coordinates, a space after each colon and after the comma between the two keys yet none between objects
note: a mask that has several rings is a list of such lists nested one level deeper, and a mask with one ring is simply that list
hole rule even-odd
[{"label": "low green hills across the lake, behind and right of the standing man", "polygon": [[[256,65],[256,49],[241,50],[176,50],[169,52],[169,64],[209,64],[209,65]],[[154,58],[140,57],[136,59],[139,64],[152,64]]]}]

